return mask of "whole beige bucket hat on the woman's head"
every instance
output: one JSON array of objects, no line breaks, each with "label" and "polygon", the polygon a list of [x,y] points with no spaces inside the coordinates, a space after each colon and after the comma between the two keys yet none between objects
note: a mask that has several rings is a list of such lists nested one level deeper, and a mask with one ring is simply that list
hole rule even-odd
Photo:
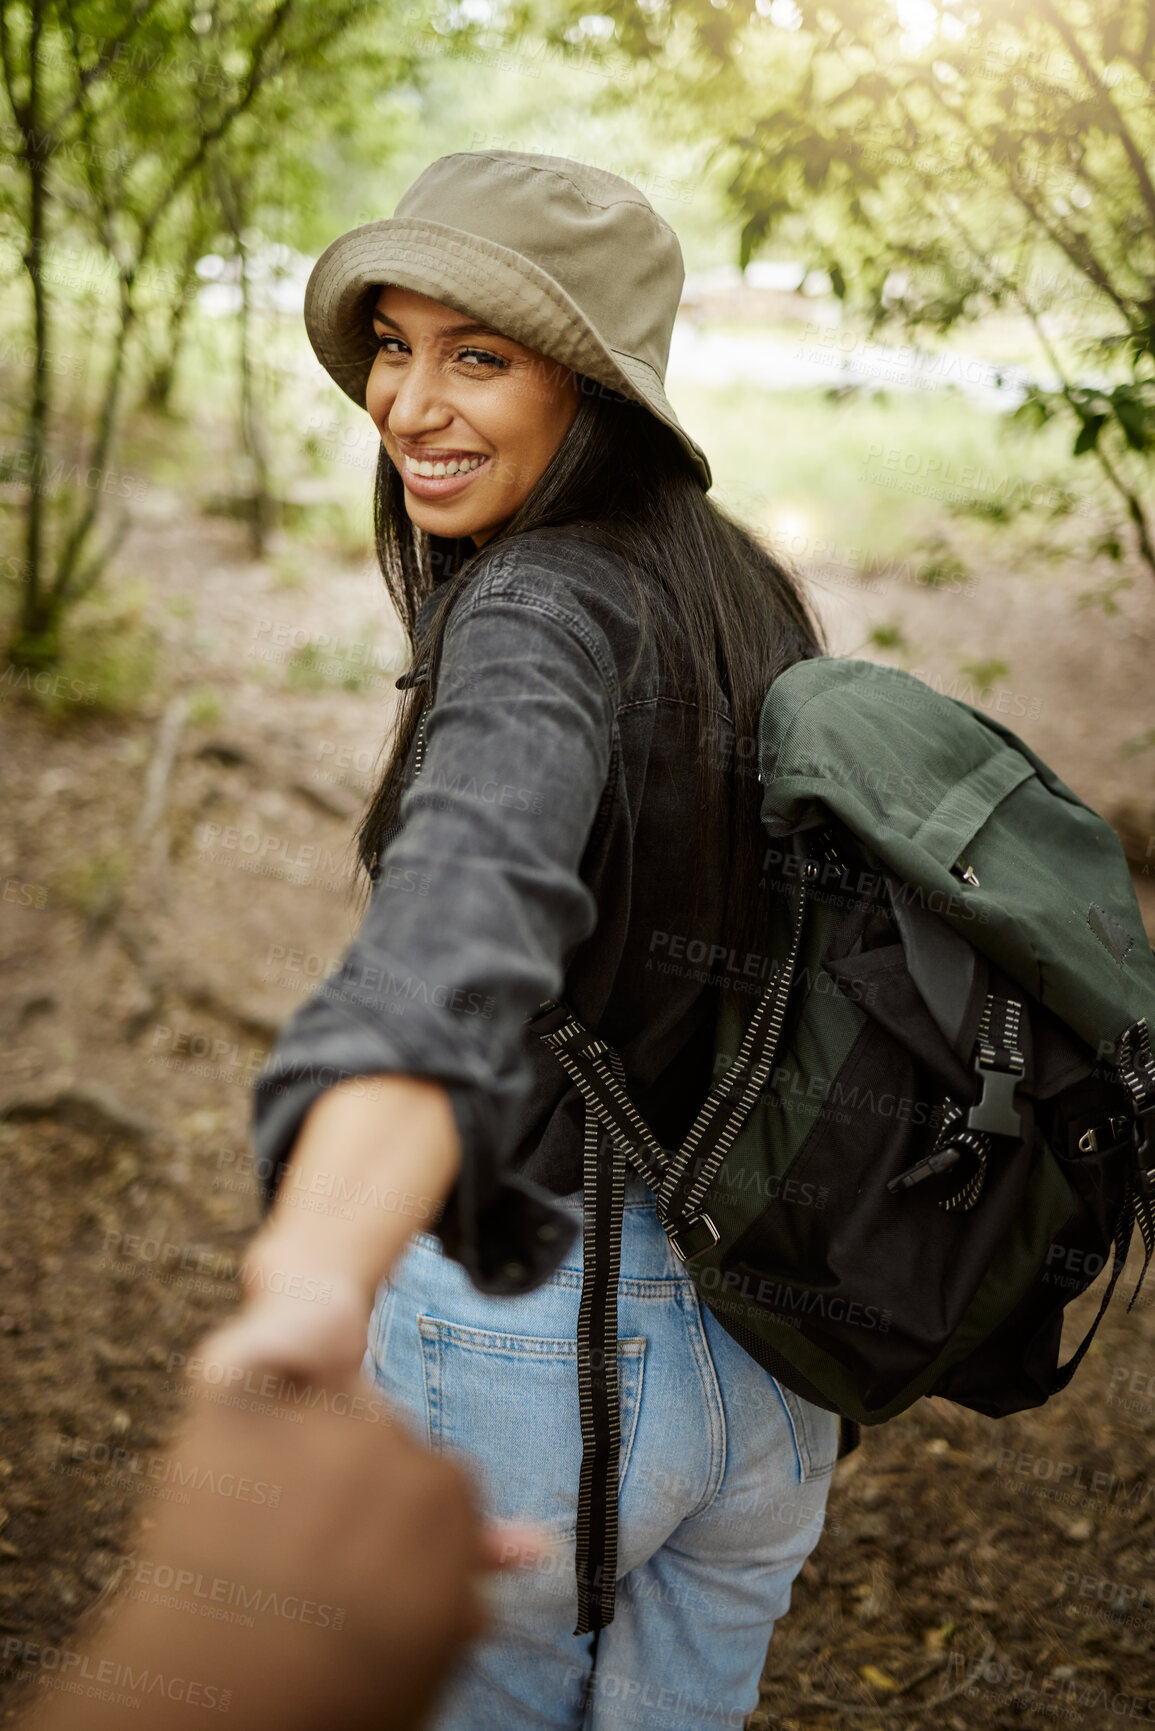
[{"label": "whole beige bucket hat on the woman's head", "polygon": [[707,454],[665,395],[684,280],[674,228],[620,175],[568,156],[457,151],[429,163],[393,216],[326,248],[305,289],[305,329],[364,409],[377,353],[369,291],[428,294],[641,403],[677,434],[708,492]]}]

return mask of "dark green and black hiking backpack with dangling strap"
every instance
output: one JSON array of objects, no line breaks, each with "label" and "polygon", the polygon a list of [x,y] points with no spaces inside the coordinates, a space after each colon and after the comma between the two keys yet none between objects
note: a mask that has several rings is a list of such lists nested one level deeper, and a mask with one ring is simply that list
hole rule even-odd
[{"label": "dark green and black hiking backpack with dangling strap", "polygon": [[779,959],[745,1026],[719,1016],[682,1146],[568,1006],[530,1018],[587,1108],[575,1634],[613,1620],[627,1162],[701,1300],[842,1416],[843,1454],[919,1395],[1041,1406],[1136,1220],[1131,1303],[1155,1248],[1155,952],[1108,824],[1008,727],[868,661],[779,675],[758,763]]}]

